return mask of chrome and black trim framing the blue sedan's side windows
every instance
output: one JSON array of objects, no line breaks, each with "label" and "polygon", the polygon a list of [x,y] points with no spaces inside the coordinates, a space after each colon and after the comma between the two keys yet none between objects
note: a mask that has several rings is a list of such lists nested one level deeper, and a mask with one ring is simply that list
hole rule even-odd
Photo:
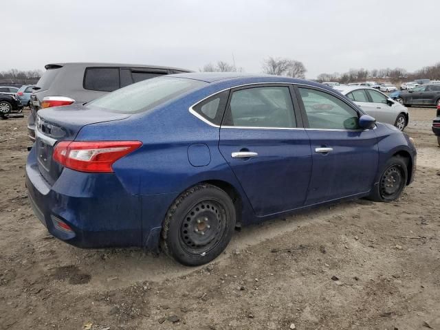
[{"label": "chrome and black trim framing the blue sedan's side windows", "polygon": [[[297,127],[292,127],[292,128],[284,128],[284,127],[253,127],[253,126],[221,126],[221,125],[217,125],[214,124],[212,122],[210,122],[209,120],[206,120],[205,118],[203,118],[201,115],[199,115],[199,113],[197,113],[196,111],[194,111],[194,109],[192,109],[193,107],[195,107],[197,104],[199,104],[200,102],[203,102],[204,100],[221,93],[222,91],[227,91],[227,90],[233,90],[233,89],[239,89],[241,87],[248,87],[248,86],[256,86],[256,85],[267,85],[267,86],[273,86],[273,85],[279,85],[279,86],[288,86],[289,90],[290,90],[290,95],[292,97],[292,102],[294,104],[294,111],[295,111],[295,115],[296,115],[296,123],[297,123]],[[354,103],[354,101],[349,100],[347,97],[342,97],[341,95],[334,91],[334,90],[329,90],[329,89],[325,89],[322,87],[318,87],[318,86],[314,86],[314,85],[309,85],[309,84],[302,84],[302,83],[272,83],[272,82],[265,82],[265,83],[248,83],[248,84],[243,84],[243,85],[237,85],[234,87],[228,87],[225,89],[221,89],[220,91],[216,91],[208,96],[206,96],[205,98],[202,98],[201,100],[197,101],[195,104],[192,104],[189,108],[188,111],[194,115],[196,118],[198,118],[199,120],[201,120],[202,122],[205,122],[206,124],[215,127],[217,129],[222,128],[222,129],[291,129],[291,130],[310,130],[310,131],[367,131],[365,129],[311,129],[307,126],[309,126],[309,122],[307,120],[307,115],[306,117],[304,116],[303,112],[305,113],[305,109],[301,109],[303,107],[303,100],[300,99],[300,97],[298,97],[299,95],[299,91],[298,86],[302,86],[302,87],[307,87],[307,88],[311,88],[311,89],[316,89],[318,91],[324,91],[325,93],[331,94],[333,96],[335,96],[336,98],[340,99],[342,102],[347,103],[347,105],[349,105],[349,107],[351,107],[353,110],[355,110],[358,115],[366,115],[366,113],[364,113],[364,111],[362,111],[362,109],[358,108],[358,106]],[[228,107],[229,102],[230,102],[230,98],[232,96],[232,93],[229,94],[229,98],[228,98],[228,104],[226,104],[226,106]]]}]

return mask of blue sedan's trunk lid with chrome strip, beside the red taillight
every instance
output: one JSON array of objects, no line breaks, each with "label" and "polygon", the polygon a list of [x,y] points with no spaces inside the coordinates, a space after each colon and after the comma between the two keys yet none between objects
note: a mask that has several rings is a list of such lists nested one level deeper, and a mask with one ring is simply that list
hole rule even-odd
[{"label": "blue sedan's trunk lid with chrome strip, beside the red taillight", "polygon": [[35,124],[36,157],[41,175],[52,186],[61,175],[63,166],[52,159],[57,142],[75,140],[76,135],[89,124],[110,122],[129,118],[124,113],[102,111],[96,107],[85,107],[74,104],[65,107],[54,107],[39,111]]}]

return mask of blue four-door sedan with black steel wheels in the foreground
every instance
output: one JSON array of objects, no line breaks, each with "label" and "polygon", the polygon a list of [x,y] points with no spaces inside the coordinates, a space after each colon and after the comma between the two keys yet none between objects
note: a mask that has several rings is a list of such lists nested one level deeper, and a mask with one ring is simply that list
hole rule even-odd
[{"label": "blue four-door sedan with black steel wheels in the foreground", "polygon": [[201,265],[237,225],[345,199],[394,201],[415,167],[408,135],[335,89],[194,73],[39,111],[26,186],[66,243],[162,248]]}]

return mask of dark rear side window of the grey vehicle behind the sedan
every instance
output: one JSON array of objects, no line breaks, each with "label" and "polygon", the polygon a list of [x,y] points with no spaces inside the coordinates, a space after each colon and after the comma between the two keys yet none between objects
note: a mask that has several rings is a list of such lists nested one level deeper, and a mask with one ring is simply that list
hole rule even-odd
[{"label": "dark rear side window of the grey vehicle behind the sedan", "polygon": [[115,91],[120,88],[118,67],[87,67],[84,88],[92,91]]}]

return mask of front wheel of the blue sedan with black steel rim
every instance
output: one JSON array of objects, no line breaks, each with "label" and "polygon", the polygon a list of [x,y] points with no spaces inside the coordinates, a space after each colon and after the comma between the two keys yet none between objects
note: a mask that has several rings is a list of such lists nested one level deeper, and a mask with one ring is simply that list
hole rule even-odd
[{"label": "front wheel of the blue sedan with black steel rim", "polygon": [[379,184],[371,191],[369,199],[373,201],[395,201],[404,191],[408,179],[406,159],[393,156],[386,162],[380,175]]}]

